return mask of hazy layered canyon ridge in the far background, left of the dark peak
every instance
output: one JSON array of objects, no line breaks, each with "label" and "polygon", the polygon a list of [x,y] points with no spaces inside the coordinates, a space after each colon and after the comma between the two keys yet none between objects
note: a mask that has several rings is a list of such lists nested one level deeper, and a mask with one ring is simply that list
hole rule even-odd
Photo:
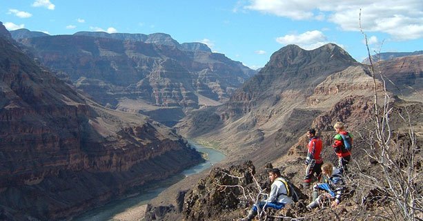
[{"label": "hazy layered canyon ridge in the far background, left of the dark peak", "polygon": [[163,33],[77,32],[17,41],[100,104],[170,126],[187,110],[225,102],[256,73],[205,44],[179,44]]}]

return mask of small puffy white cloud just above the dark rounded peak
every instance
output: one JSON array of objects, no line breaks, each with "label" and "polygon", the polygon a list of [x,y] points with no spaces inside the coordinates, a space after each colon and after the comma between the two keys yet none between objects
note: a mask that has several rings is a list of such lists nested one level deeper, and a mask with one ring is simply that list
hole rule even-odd
[{"label": "small puffy white cloud just above the dark rounded peak", "polygon": [[319,48],[324,44],[328,44],[326,36],[319,30],[311,30],[299,35],[285,35],[283,37],[277,37],[276,41],[283,45],[296,44],[306,50],[312,50]]}]

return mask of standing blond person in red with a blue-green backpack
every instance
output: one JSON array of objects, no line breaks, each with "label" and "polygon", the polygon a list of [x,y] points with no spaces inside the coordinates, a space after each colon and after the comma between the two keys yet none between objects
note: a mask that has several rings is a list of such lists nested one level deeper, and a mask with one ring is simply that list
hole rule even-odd
[{"label": "standing blond person in red with a blue-green backpack", "polygon": [[337,135],[332,147],[338,156],[338,169],[341,173],[348,172],[347,165],[351,160],[351,146],[353,145],[353,135],[344,131],[344,123],[336,122],[333,126]]}]

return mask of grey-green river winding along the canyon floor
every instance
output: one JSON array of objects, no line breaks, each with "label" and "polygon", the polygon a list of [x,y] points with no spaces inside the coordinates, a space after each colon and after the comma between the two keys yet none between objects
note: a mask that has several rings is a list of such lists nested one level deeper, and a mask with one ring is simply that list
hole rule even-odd
[{"label": "grey-green river winding along the canyon floor", "polygon": [[[222,161],[225,157],[222,153],[215,151],[213,148],[207,148],[205,146],[201,146],[193,142],[190,142],[190,145],[195,147],[197,151],[203,153],[204,157],[206,158],[206,162],[198,164],[197,166],[193,166],[190,169],[186,169],[181,174],[170,177],[164,181],[152,184],[150,186],[148,185],[142,186],[139,189],[134,189],[126,197],[123,197],[117,200],[112,200],[108,204],[105,204],[104,206],[100,206],[96,209],[87,211],[86,213],[83,213],[82,215],[79,215],[72,220],[75,220],[75,221],[112,220],[112,218],[115,215],[122,213],[126,211],[127,209],[148,204],[148,202],[150,202],[151,199],[157,197],[159,193],[167,189],[169,186],[183,180],[184,177],[209,169],[211,166],[213,166],[213,164],[216,164]],[[157,186],[161,186],[161,187],[158,188]]]}]

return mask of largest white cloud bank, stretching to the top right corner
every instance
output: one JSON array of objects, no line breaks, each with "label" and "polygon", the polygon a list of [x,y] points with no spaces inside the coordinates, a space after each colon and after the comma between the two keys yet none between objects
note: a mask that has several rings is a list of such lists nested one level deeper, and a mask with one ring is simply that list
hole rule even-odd
[{"label": "largest white cloud bank, stretching to the top right corner", "polygon": [[[396,40],[423,37],[422,0],[251,0],[244,8],[295,20],[326,19],[342,30],[384,32]],[[361,9],[361,19],[360,19]]]}]

